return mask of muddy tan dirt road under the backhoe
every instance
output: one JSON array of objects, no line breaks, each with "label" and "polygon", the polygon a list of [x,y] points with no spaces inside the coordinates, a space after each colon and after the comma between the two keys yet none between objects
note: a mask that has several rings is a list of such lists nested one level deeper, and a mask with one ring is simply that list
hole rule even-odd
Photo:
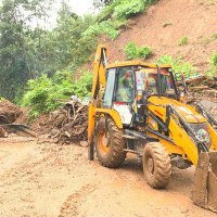
[{"label": "muddy tan dirt road under the backhoe", "polygon": [[174,169],[167,189],[153,190],[132,155],[108,169],[86,148],[1,140],[0,217],[214,217],[189,199],[193,171]]}]

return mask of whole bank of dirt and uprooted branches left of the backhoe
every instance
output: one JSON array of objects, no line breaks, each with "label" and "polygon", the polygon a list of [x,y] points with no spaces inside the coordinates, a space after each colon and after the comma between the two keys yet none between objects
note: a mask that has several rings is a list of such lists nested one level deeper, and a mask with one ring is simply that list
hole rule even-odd
[{"label": "whole bank of dirt and uprooted branches left of the backhoe", "polygon": [[[59,143],[87,141],[88,106],[80,101],[66,101],[61,110],[40,114],[28,120],[29,108],[12,102],[0,103],[0,138],[23,136],[55,139]],[[85,144],[86,145],[86,144]]]}]

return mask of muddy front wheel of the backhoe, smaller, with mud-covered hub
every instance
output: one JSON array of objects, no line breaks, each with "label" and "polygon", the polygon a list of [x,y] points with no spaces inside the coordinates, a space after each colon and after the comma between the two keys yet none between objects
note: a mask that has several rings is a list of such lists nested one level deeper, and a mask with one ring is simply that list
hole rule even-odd
[{"label": "muddy front wheel of the backhoe, smaller, with mud-covered hub", "polygon": [[148,143],[144,148],[142,163],[144,177],[151,187],[163,189],[168,184],[171,164],[169,154],[162,143]]}]

